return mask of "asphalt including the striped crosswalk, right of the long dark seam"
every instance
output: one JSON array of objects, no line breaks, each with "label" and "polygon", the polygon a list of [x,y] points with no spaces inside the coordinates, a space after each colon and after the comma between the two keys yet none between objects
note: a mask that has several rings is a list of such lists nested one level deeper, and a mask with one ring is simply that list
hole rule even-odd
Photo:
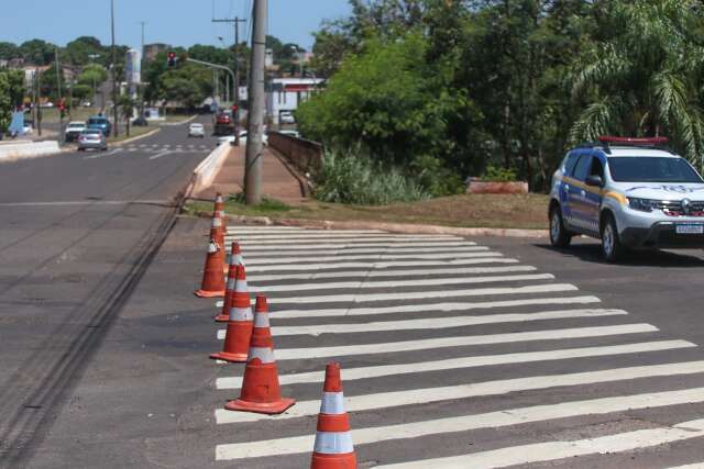
[{"label": "asphalt including the striped crosswalk, right of the long dark seam", "polygon": [[207,230],[176,224],[31,467],[307,467],[331,359],[360,467],[704,462],[700,252],[232,227],[297,400],[271,417],[222,410],[243,367],[207,358]]}]

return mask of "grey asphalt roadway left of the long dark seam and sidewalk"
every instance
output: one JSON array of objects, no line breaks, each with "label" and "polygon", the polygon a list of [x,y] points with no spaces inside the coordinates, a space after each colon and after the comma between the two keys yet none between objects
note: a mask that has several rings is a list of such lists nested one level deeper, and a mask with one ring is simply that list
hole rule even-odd
[{"label": "grey asphalt roadway left of the long dark seam and sidewalk", "polygon": [[0,467],[41,445],[215,145],[175,125],[0,165]]}]

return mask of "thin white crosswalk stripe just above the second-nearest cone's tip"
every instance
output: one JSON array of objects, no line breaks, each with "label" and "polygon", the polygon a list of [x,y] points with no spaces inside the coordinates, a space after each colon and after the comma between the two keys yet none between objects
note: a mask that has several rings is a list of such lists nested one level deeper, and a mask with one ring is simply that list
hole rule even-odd
[{"label": "thin white crosswalk stripe just above the second-nearest cone's tip", "polygon": [[299,284],[277,284],[266,287],[250,287],[252,292],[282,292],[302,290],[330,290],[330,289],[370,289],[370,288],[396,288],[396,287],[433,287],[444,284],[471,284],[492,283],[504,281],[527,281],[527,280],[553,280],[552,273],[532,273],[525,276],[490,276],[490,277],[455,277],[449,279],[421,279],[421,280],[389,280],[389,281],[356,281],[356,282],[320,282]]}]

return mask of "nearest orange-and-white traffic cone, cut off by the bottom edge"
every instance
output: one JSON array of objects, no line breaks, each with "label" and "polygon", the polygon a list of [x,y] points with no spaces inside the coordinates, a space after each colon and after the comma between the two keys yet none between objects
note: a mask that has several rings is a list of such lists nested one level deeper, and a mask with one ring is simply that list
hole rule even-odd
[{"label": "nearest orange-and-white traffic cone, cut off by the bottom edge", "polygon": [[326,367],[326,383],[318,414],[318,429],[310,469],[353,469],[356,455],[350,433],[350,418],[344,409],[340,364]]}]

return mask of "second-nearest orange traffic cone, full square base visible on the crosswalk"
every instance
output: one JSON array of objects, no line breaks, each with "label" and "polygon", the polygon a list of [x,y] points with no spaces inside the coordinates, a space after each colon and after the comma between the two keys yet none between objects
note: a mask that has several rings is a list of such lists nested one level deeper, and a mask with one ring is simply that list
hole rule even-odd
[{"label": "second-nearest orange traffic cone, full square base visible on the crosswalk", "polygon": [[282,398],[266,311],[266,297],[260,294],[256,297],[254,331],[244,368],[242,391],[240,399],[226,404],[224,407],[229,411],[280,414],[296,403],[293,399]]}]

